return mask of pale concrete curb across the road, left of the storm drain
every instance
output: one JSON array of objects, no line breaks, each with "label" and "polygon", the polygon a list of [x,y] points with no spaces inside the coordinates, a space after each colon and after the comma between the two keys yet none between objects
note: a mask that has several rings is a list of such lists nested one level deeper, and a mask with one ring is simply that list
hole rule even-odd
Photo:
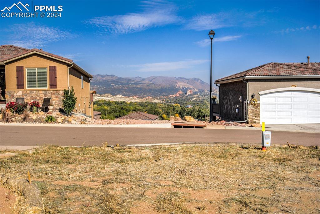
[{"label": "pale concrete curb across the road, left of the storm drain", "polygon": [[46,123],[0,123],[0,126],[41,126],[41,127],[100,127],[100,128],[171,128],[170,123],[158,124],[46,124]]}]

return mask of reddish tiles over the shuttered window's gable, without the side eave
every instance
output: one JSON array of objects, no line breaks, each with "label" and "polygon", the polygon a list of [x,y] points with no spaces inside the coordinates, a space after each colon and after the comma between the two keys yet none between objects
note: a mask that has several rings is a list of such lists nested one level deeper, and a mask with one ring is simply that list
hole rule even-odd
[{"label": "reddish tiles over the shuttered window's gable, without the side eave", "polygon": [[27,49],[27,48],[14,46],[14,45],[1,45],[0,46],[0,62],[4,62],[4,61],[7,61],[7,60],[13,59],[15,57],[22,56],[24,54],[28,54],[28,53],[31,53],[34,51],[41,53],[41,54],[48,55],[48,56],[52,56],[52,57],[60,59],[60,60],[72,62],[72,60],[70,60],[68,58],[58,56],[55,54],[51,54],[51,53],[45,52],[41,49],[37,49],[37,48]]}]

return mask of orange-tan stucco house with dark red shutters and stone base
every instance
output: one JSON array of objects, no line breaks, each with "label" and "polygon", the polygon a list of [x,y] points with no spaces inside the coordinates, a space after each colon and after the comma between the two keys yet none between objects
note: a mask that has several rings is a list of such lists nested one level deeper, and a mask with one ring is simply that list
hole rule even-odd
[{"label": "orange-tan stucco house with dark red shutters and stone base", "polygon": [[1,103],[25,102],[51,98],[50,111],[62,108],[63,90],[73,86],[77,97],[75,112],[93,116],[90,93],[92,75],[72,60],[50,54],[42,49],[27,49],[14,45],[0,46]]}]

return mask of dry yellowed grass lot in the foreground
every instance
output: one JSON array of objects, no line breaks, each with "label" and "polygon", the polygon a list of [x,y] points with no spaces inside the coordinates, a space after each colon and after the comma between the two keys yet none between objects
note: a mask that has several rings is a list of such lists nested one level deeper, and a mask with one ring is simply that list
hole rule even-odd
[{"label": "dry yellowed grass lot in the foreground", "polygon": [[[311,147],[43,146],[17,153],[0,159],[0,173],[27,178],[29,170],[44,213],[320,212],[320,150]],[[25,206],[21,200],[14,209]]]}]

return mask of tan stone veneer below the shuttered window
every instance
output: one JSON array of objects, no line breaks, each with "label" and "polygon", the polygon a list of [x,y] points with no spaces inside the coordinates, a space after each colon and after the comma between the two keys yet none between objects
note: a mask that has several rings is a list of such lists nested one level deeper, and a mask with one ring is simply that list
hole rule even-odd
[{"label": "tan stone veneer below the shuttered window", "polygon": [[51,98],[49,111],[58,112],[62,107],[63,90],[48,90],[48,91],[6,91],[6,103],[16,102],[16,98],[24,97],[25,102],[30,103],[38,101],[42,106],[44,98]]}]

